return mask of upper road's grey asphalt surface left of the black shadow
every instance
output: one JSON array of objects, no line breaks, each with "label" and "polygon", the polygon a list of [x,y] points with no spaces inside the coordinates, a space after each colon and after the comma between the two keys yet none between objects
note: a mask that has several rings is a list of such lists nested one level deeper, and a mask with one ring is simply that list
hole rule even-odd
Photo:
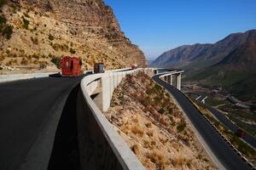
[{"label": "upper road's grey asphalt surface left of the black shadow", "polygon": [[80,80],[46,77],[0,83],[1,170],[47,169],[61,111]]}]

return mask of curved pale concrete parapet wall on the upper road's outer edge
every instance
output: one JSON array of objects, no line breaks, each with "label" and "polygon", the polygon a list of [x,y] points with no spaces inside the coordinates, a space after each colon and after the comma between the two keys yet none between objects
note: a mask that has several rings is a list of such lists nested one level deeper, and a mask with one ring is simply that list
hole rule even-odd
[{"label": "curved pale concrete parapet wall on the upper road's outer edge", "polygon": [[82,80],[77,97],[79,154],[82,169],[144,169],[137,156],[90,98],[90,94],[96,90],[96,84],[102,81],[102,94],[104,94],[102,99],[106,99],[105,102],[108,102],[106,107],[108,107],[113,90],[121,82],[122,77],[137,71],[151,70],[108,71],[84,77]]}]

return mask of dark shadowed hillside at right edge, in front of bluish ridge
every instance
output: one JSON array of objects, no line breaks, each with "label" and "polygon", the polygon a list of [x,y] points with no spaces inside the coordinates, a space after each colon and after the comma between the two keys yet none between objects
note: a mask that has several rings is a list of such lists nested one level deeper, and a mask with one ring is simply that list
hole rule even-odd
[{"label": "dark shadowed hillside at right edge, in front of bluish ridge", "polygon": [[186,79],[221,85],[241,99],[256,101],[256,38],[243,43],[218,64],[197,71]]}]

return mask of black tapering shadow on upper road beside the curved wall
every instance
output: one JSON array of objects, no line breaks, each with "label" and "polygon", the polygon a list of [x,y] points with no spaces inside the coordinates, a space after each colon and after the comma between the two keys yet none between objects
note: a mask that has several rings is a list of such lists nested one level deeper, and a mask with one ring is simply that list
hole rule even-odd
[{"label": "black tapering shadow on upper road beside the curved wall", "polygon": [[55,134],[55,143],[50,156],[48,170],[80,169],[76,118],[76,99],[79,85],[67,97]]}]

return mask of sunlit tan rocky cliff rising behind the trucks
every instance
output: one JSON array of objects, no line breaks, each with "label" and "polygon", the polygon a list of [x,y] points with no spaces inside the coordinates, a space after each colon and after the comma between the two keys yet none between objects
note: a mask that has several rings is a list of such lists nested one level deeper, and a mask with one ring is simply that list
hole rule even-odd
[{"label": "sunlit tan rocky cliff rising behind the trucks", "polygon": [[[2,1],[1,1],[2,2]],[[143,52],[120,31],[102,0],[9,0],[1,4],[0,62],[16,68],[75,55],[84,70],[103,61],[108,69],[146,66]]]}]

